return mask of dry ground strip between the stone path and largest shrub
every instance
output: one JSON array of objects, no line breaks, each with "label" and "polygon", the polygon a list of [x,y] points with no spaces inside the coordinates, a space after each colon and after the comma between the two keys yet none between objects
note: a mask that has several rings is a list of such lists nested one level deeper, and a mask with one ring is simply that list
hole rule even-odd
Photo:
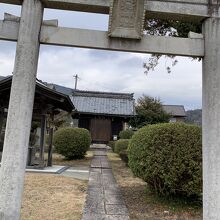
[{"label": "dry ground strip between the stone path and largest shrub", "polygon": [[147,184],[134,177],[117,154],[109,153],[108,157],[132,220],[202,220],[201,208],[158,201],[148,192]]}]

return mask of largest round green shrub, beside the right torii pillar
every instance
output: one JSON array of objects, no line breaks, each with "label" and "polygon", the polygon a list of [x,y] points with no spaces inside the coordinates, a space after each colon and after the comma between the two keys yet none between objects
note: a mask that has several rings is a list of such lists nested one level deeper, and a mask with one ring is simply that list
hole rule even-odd
[{"label": "largest round green shrub, beside the right torii pillar", "polygon": [[201,137],[201,128],[184,123],[143,127],[130,141],[129,167],[160,195],[200,198]]}]

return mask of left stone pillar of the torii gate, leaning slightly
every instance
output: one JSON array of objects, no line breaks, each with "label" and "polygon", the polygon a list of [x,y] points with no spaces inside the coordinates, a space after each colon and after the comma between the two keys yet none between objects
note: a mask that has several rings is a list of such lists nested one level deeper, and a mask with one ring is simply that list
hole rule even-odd
[{"label": "left stone pillar of the torii gate, leaning slightly", "polygon": [[0,170],[0,219],[20,219],[43,19],[40,0],[23,0]]}]

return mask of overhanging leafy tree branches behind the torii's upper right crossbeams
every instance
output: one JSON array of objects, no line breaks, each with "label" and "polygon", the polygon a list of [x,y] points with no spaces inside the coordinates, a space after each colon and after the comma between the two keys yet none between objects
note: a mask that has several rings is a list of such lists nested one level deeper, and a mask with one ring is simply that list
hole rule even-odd
[{"label": "overhanging leafy tree branches behind the torii's upper right crossbeams", "polygon": [[[201,22],[183,22],[175,20],[162,20],[162,19],[147,19],[145,22],[145,32],[148,35],[157,35],[157,36],[171,36],[171,37],[188,37],[188,33],[202,32],[202,23]],[[147,74],[150,70],[154,70],[159,63],[159,59],[162,57],[161,54],[153,54],[144,63],[144,68],[146,69],[145,73]],[[166,56],[167,58],[173,59],[172,66],[177,64],[177,59],[174,59],[175,56]],[[171,67],[167,66],[167,72],[171,72]]]}]

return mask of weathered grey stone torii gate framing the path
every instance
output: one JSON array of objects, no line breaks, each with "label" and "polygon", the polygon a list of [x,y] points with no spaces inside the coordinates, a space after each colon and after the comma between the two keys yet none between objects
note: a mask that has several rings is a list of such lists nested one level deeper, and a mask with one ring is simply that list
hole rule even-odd
[{"label": "weathered grey stone torii gate framing the path", "polygon": [[[0,21],[0,39],[17,41],[2,167],[0,219],[20,217],[26,155],[41,44],[203,58],[203,219],[220,218],[219,0],[0,0],[22,4],[21,18]],[[42,22],[44,8],[110,14],[109,31]],[[143,36],[150,18],[203,22],[203,36]]]}]

